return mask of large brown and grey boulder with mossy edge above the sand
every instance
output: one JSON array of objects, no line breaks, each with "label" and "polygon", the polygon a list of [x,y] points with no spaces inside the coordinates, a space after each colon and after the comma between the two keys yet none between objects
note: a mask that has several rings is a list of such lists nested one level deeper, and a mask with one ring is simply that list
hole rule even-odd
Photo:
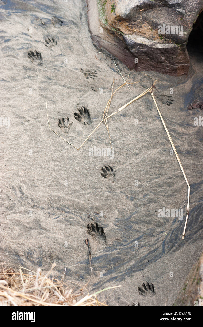
[{"label": "large brown and grey boulder with mossy edge above the sand", "polygon": [[186,43],[202,0],[86,0],[91,37],[131,69],[188,73]]}]

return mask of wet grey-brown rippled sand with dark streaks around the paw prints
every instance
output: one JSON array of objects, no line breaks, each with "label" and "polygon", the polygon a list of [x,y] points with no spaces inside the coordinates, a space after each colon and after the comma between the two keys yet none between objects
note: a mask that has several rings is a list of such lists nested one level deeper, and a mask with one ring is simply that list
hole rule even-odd
[{"label": "wet grey-brown rippled sand with dark streaks around the paw prints", "polygon": [[[0,116],[7,118],[0,128],[0,261],[34,271],[48,271],[55,262],[55,276],[65,272],[65,280],[84,285],[88,237],[89,291],[122,285],[101,294],[101,301],[110,295],[109,305],[172,305],[203,250],[203,127],[194,126],[203,113],[187,109],[202,96],[202,57],[190,54],[187,77],[144,72],[162,81],[157,103],[191,185],[182,241],[187,185],[150,94],[108,120],[114,158],[89,156],[94,146],[109,148],[104,123],[79,151],[49,129],[46,100],[51,127],[80,146],[102,119],[113,78],[115,88],[123,83],[114,58],[91,41],[85,1],[7,1],[0,15]],[[47,44],[47,37],[54,41]],[[30,50],[41,53],[42,65],[28,58]],[[128,68],[115,62],[127,78]],[[132,92],[127,86],[117,91],[109,113],[153,82],[142,72],[130,78],[139,83],[130,85]],[[172,96],[173,104],[165,105],[162,95]],[[78,106],[87,108],[89,125],[75,119]],[[57,124],[62,117],[72,122],[68,134]],[[104,165],[115,167],[115,180],[101,176]],[[183,220],[158,217],[164,207],[183,209]],[[87,224],[94,229],[96,222],[98,231],[87,234]],[[155,293],[140,295],[143,282]]]}]

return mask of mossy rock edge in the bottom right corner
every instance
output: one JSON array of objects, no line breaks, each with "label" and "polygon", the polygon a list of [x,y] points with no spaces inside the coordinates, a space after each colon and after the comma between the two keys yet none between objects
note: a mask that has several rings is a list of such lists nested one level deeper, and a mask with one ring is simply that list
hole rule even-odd
[{"label": "mossy rock edge in the bottom right corner", "polygon": [[203,306],[203,253],[191,269],[173,305]]}]

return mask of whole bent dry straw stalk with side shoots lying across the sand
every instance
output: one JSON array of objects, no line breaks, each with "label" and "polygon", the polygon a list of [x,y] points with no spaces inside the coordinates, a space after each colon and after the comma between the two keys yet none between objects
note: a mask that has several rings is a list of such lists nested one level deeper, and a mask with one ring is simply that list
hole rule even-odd
[{"label": "whole bent dry straw stalk with side shoots lying across the sand", "polygon": [[[124,79],[124,81],[125,81],[125,79]],[[155,81],[156,81],[156,80],[155,80]],[[187,213],[186,213],[185,226],[184,226],[183,235],[182,235],[182,240],[183,240],[183,239],[184,239],[184,236],[185,236],[185,230],[186,230],[186,225],[187,225],[187,220],[188,220],[188,215],[189,215],[190,185],[189,185],[189,183],[188,183],[187,177],[186,177],[186,175],[185,175],[185,172],[184,172],[183,166],[182,166],[182,164],[181,164],[181,162],[180,162],[180,158],[179,158],[178,153],[177,153],[177,151],[176,151],[176,148],[175,148],[175,146],[174,146],[174,144],[173,144],[173,141],[172,141],[172,139],[171,139],[171,136],[170,136],[170,134],[169,134],[169,132],[168,132],[168,129],[167,129],[165,123],[164,123],[164,119],[163,119],[163,117],[162,117],[162,115],[161,115],[161,112],[159,111],[159,108],[158,108],[158,106],[157,106],[156,100],[155,100],[155,98],[154,98],[154,94],[153,94],[152,89],[153,89],[153,86],[154,86],[154,84],[155,84],[155,81],[154,81],[154,83],[152,84],[151,87],[149,87],[148,89],[146,89],[146,90],[145,90],[144,92],[142,92],[140,95],[137,95],[133,100],[129,101],[128,103],[126,103],[125,105],[123,105],[122,107],[120,107],[120,108],[118,109],[118,111],[111,113],[111,114],[110,114],[109,116],[107,116],[107,117],[106,117],[106,116],[104,117],[104,114],[103,114],[103,118],[104,118],[104,119],[101,120],[101,122],[100,122],[100,123],[95,127],[95,129],[94,129],[94,130],[89,134],[89,136],[86,138],[86,140],[81,144],[81,146],[80,146],[79,148],[77,148],[76,146],[72,145],[70,142],[68,142],[67,140],[65,140],[62,136],[60,136],[58,133],[56,133],[56,132],[55,132],[55,131],[50,127],[50,124],[49,124],[49,117],[48,117],[48,111],[47,111],[47,119],[48,119],[49,128],[50,128],[50,129],[51,129],[51,130],[52,130],[56,135],[58,135],[60,138],[62,138],[62,140],[66,141],[68,144],[70,144],[71,146],[73,146],[75,149],[80,150],[80,148],[85,144],[85,142],[88,140],[88,138],[89,138],[89,137],[94,133],[94,131],[95,131],[95,130],[96,130],[96,129],[101,125],[102,122],[105,123],[105,125],[106,125],[106,127],[107,127],[107,130],[108,130],[107,119],[109,119],[110,117],[114,116],[114,115],[117,114],[118,112],[122,111],[122,110],[125,109],[127,106],[129,106],[129,104],[133,103],[133,102],[136,101],[137,99],[141,98],[142,96],[144,96],[144,95],[146,95],[148,92],[150,92],[150,93],[151,93],[151,96],[152,96],[152,98],[153,98],[153,101],[154,101],[154,103],[155,103],[156,109],[157,109],[157,111],[158,111],[158,113],[159,113],[159,116],[160,116],[160,118],[161,118],[161,121],[162,121],[162,123],[163,123],[163,125],[164,125],[164,129],[165,129],[165,131],[166,131],[166,133],[167,133],[167,135],[168,135],[169,141],[170,141],[170,143],[171,143],[171,145],[172,145],[172,147],[173,147],[173,150],[174,150],[174,152],[175,152],[176,158],[177,158],[178,163],[179,163],[179,165],[180,165],[180,169],[182,170],[183,176],[184,176],[185,181],[186,181],[187,186],[188,186]],[[127,81],[125,81],[125,83],[124,83],[123,85],[125,85],[125,84],[127,84]],[[121,86],[123,86],[123,85],[121,85]],[[120,87],[121,87],[121,86],[120,86]],[[120,87],[119,87],[119,88],[120,88]],[[118,90],[119,88],[117,88],[117,90]],[[117,90],[116,90],[116,91],[117,91]],[[114,93],[115,93],[116,91],[114,91]],[[113,93],[113,86],[112,86],[111,97],[110,97],[109,101],[107,102],[106,108],[107,108],[109,102],[111,101],[111,98],[112,98],[112,96],[114,95],[114,93]],[[106,111],[106,108],[105,108],[105,110],[104,110],[104,113],[105,113],[105,111]],[[109,109],[109,108],[108,108],[108,109]],[[47,110],[47,101],[46,101],[46,110]],[[108,130],[108,132],[109,132],[109,130]],[[110,137],[110,135],[109,135],[109,137]],[[111,141],[110,141],[110,142],[111,142]]]}]

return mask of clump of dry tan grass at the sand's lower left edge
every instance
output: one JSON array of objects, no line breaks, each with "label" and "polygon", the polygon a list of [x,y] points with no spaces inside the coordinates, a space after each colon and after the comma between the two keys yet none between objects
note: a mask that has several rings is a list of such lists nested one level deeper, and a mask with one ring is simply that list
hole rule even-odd
[{"label": "clump of dry tan grass at the sand's lower left edge", "polygon": [[[106,305],[97,299],[97,294],[118,286],[108,287],[94,294],[84,297],[83,289],[75,294],[72,289],[53,276],[53,264],[46,275],[42,275],[40,269],[37,273],[20,267],[16,272],[12,268],[3,268],[0,272],[0,301],[9,301],[14,306],[64,306],[64,305]],[[26,270],[27,273],[23,273]],[[85,288],[86,289],[86,288]]]}]

